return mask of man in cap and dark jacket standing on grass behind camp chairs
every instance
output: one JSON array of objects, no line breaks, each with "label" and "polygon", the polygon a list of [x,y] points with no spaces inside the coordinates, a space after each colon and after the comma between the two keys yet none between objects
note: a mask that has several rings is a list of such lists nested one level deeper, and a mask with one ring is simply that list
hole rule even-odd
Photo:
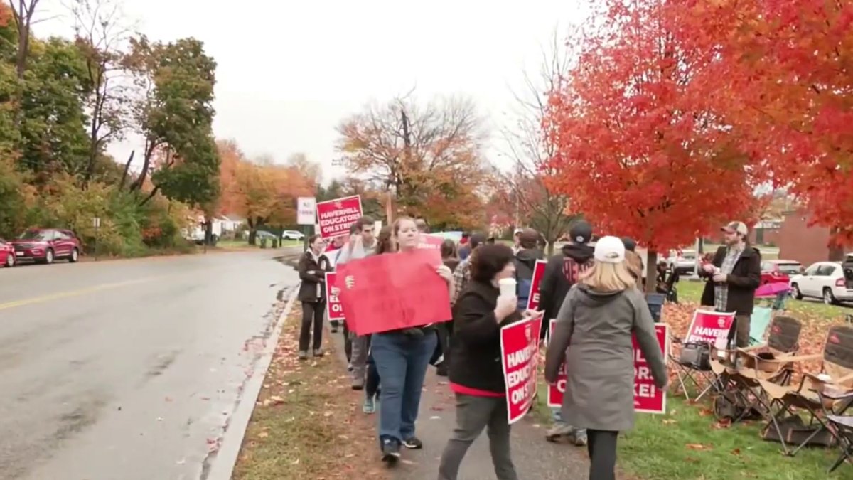
[{"label": "man in cap and dark jacket standing on grass behind camp chairs", "polygon": [[761,284],[761,253],[746,243],[749,231],[743,222],[731,222],[721,230],[726,244],[699,271],[700,277],[708,278],[702,305],[734,312],[735,341],[738,347],[748,347],[755,290]]}]

